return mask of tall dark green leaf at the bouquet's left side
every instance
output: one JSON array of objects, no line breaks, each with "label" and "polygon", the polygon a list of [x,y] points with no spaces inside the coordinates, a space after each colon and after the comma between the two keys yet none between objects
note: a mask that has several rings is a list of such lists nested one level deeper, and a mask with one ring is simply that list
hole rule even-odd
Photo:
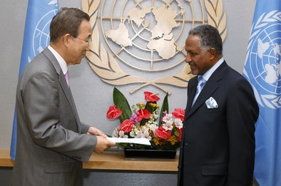
[{"label": "tall dark green leaf at the bouquet's left side", "polygon": [[131,118],[132,110],[128,103],[128,100],[125,98],[123,93],[121,93],[117,88],[113,89],[113,103],[116,105],[116,108],[122,110],[122,115],[119,116],[120,123],[123,123],[123,120]]}]

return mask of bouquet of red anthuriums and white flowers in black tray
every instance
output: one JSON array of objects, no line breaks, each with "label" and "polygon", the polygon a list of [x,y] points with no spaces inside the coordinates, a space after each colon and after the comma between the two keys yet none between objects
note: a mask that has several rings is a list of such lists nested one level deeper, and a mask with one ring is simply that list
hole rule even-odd
[{"label": "bouquet of red anthuriums and white flowers in black tray", "polygon": [[136,103],[130,106],[125,96],[113,90],[113,102],[106,114],[107,118],[119,118],[121,125],[113,130],[112,138],[147,138],[151,145],[118,143],[126,149],[136,150],[177,150],[183,131],[185,110],[175,108],[168,113],[168,94],[165,95],[162,108],[159,111],[154,93],[144,92],[146,103]]}]

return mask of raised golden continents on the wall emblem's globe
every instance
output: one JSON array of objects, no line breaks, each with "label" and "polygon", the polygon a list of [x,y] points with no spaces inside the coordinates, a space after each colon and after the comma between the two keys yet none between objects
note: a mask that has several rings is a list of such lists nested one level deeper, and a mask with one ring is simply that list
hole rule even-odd
[{"label": "raised golden continents on the wall emblem's globe", "polygon": [[[183,9],[180,9],[184,12]],[[125,18],[120,22],[118,29],[106,31],[106,36],[111,38],[118,45],[133,46],[131,38],[128,37],[128,29],[124,21],[134,22],[138,27],[147,28],[150,24],[145,15],[153,13],[157,24],[150,30],[151,37],[146,45],[150,50],[155,49],[161,58],[168,59],[175,56],[175,38],[173,37],[173,28],[180,26],[180,23],[175,21],[177,12],[173,9],[168,9],[164,4],[160,8],[146,7],[145,9],[133,8],[126,14]],[[164,16],[163,16],[164,15]],[[117,34],[114,34],[117,33]],[[160,47],[166,45],[166,47]],[[169,53],[167,50],[173,51]]]}]

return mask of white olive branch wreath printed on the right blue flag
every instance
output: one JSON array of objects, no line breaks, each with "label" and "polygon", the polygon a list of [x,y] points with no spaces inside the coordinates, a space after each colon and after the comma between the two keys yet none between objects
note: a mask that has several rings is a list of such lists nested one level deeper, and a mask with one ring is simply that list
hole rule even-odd
[{"label": "white olive branch wreath printed on the right blue flag", "polygon": [[[270,11],[268,14],[262,14],[259,19],[257,19],[256,23],[252,24],[252,29],[251,29],[251,35],[249,38],[249,43],[247,46],[247,53],[246,53],[246,61],[247,59],[250,57],[250,49],[251,46],[253,44],[253,42],[255,41],[255,36],[257,36],[258,33],[260,33],[260,31],[262,30],[262,28],[264,28],[265,26],[267,26],[267,24],[270,24],[272,22],[275,21],[281,21],[281,11]],[[247,74],[247,71],[244,71],[243,73],[245,74],[245,76],[247,76],[247,78],[249,79],[249,76]],[[265,107],[265,105],[267,105],[267,107],[269,108],[281,108],[281,97],[278,95],[262,95],[259,94],[257,89],[255,88],[255,86],[252,86],[254,93],[255,93],[255,98],[257,100],[257,103],[259,103],[260,105],[262,105],[262,107]],[[265,103],[265,105],[262,103]]]}]

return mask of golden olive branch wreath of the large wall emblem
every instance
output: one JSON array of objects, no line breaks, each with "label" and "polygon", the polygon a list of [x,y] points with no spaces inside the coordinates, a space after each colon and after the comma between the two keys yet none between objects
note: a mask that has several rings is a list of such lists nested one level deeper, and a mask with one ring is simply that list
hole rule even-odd
[{"label": "golden olive branch wreath of the large wall emblem", "polygon": [[[190,66],[188,66],[188,64],[185,64],[182,71],[175,76],[157,78],[153,81],[148,81],[147,79],[139,76],[131,76],[130,74],[124,72],[111,53],[106,51],[103,43],[100,44],[100,34],[98,31],[98,24],[96,24],[98,16],[97,9],[100,2],[101,0],[82,0],[82,10],[91,17],[90,23],[93,26],[93,42],[90,43],[90,51],[86,53],[86,58],[88,59],[89,66],[93,71],[95,71],[102,81],[114,86],[143,83],[141,86],[133,88],[130,93],[134,93],[138,89],[148,85],[156,86],[168,94],[170,94],[170,91],[163,86],[160,86],[160,84],[168,84],[178,87],[188,86],[188,81],[193,77],[190,73]],[[218,31],[224,41],[227,29],[226,14],[225,11],[223,11],[223,0],[205,0],[205,7],[208,12],[208,24],[218,28]]]}]

